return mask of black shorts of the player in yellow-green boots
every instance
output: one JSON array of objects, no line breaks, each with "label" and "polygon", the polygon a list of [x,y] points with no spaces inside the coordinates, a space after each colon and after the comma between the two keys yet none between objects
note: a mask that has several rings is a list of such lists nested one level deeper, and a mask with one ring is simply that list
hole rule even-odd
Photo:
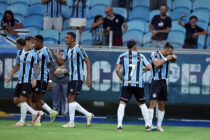
[{"label": "black shorts of the player in yellow-green boots", "polygon": [[46,94],[47,92],[47,83],[41,80],[37,81],[37,85],[35,88],[32,88],[33,93],[42,93]]}]

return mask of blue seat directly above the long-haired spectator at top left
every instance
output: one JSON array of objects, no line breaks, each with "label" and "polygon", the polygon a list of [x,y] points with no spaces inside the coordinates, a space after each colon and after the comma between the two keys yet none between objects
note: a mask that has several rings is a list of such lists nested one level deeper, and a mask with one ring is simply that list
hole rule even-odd
[{"label": "blue seat directly above the long-haired spectator at top left", "polygon": [[7,10],[11,10],[14,14],[19,14],[24,17],[28,15],[28,5],[25,3],[16,3],[7,7]]}]

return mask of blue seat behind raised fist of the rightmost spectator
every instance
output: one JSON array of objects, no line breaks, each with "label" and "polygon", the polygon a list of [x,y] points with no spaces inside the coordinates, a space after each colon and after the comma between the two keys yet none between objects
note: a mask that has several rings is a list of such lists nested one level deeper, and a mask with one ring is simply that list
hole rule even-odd
[{"label": "blue seat behind raised fist of the rightmost spectator", "polygon": [[186,9],[186,8],[176,8],[175,10],[173,10],[173,12],[170,14],[170,17],[173,20],[179,20],[179,18],[181,17],[181,15],[185,14],[186,17],[182,18],[182,22],[188,22],[187,17],[189,17],[190,15],[190,10]]}]

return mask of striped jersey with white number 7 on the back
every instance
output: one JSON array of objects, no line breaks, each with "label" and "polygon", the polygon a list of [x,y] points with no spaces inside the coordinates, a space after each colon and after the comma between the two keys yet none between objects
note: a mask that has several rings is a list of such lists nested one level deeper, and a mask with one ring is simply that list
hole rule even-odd
[{"label": "striped jersey with white number 7 on the back", "polygon": [[127,51],[118,57],[117,64],[122,67],[123,86],[144,87],[143,67],[149,62],[136,51]]}]

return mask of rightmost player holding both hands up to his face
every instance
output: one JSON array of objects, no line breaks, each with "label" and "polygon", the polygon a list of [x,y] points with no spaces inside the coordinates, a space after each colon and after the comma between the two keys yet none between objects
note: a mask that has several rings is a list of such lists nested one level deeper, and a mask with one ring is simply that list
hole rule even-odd
[{"label": "rightmost player holding both hands up to his face", "polygon": [[[168,91],[166,79],[168,78],[169,61],[175,62],[177,56],[173,54],[173,46],[166,43],[160,51],[151,53],[150,63],[152,65],[151,70],[151,88],[150,88],[150,105],[149,105],[149,118],[150,124],[152,124],[154,108],[156,101],[158,101],[157,111],[157,130],[163,132],[162,121],[165,114],[165,101],[168,99]],[[151,125],[151,127],[153,127]]]}]

